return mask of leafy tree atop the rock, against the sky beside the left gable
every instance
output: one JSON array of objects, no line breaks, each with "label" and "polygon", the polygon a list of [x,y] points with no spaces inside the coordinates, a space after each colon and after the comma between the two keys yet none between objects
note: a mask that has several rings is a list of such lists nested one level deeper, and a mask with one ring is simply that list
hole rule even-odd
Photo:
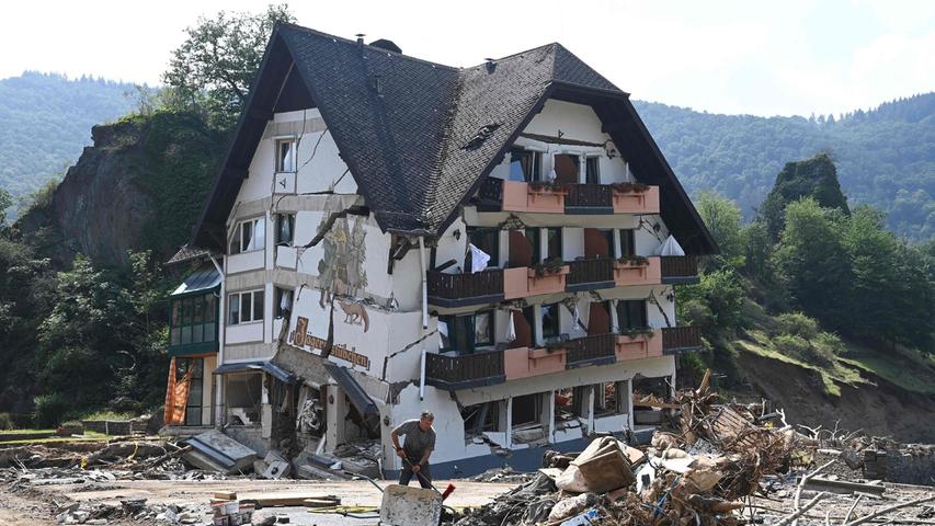
[{"label": "leafy tree atop the rock, against the sky beside the left gable", "polygon": [[199,18],[174,52],[162,76],[175,101],[204,113],[221,129],[237,122],[276,22],[295,22],[288,4],[260,14],[220,11]]}]

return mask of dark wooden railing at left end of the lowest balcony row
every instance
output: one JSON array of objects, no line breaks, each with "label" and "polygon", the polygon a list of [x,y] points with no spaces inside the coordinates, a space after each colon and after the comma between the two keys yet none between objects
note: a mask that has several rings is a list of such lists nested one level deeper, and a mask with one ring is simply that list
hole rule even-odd
[{"label": "dark wooden railing at left end of the lowest balcony row", "polygon": [[425,381],[442,389],[490,386],[504,380],[503,351],[425,355]]}]

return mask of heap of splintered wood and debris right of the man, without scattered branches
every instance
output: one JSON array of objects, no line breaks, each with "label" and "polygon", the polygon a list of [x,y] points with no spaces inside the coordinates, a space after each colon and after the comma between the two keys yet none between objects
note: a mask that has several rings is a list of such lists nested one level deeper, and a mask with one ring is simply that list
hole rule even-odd
[{"label": "heap of splintered wood and debris right of the man, without scattered branches", "polygon": [[745,407],[721,403],[707,381],[680,392],[675,403],[679,428],[658,431],[645,451],[611,436],[577,455],[549,451],[536,479],[457,524],[742,524],[734,512],[765,492],[761,480],[814,448],[791,426],[777,428]]}]

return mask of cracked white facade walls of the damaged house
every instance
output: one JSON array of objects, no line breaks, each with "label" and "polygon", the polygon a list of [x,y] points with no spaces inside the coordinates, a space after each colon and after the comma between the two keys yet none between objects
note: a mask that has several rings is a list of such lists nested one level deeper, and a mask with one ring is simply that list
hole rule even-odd
[{"label": "cracked white facade walls of the damaged house", "polygon": [[[609,136],[601,132],[601,122],[589,106],[549,101],[523,135],[516,146],[540,152],[541,170],[545,173],[552,170],[555,155],[574,155],[581,159],[597,159],[602,184],[631,182],[635,175],[639,175],[630,172]],[[545,141],[541,136],[562,137],[571,144]],[[289,147],[289,142],[295,146]],[[600,146],[582,146],[579,142]],[[281,148],[286,148],[289,153],[283,156],[284,150]],[[491,176],[509,179],[510,161],[508,155]],[[583,168],[581,178],[580,182],[584,182]],[[352,377],[379,409],[385,469],[400,468],[398,457],[392,455],[389,430],[404,420],[418,416],[421,410],[433,411],[436,415],[438,447],[432,457],[433,462],[449,462],[488,456],[495,448],[518,450],[531,447],[528,443],[518,442],[513,436],[516,431],[514,427],[518,428],[511,422],[512,415],[518,414],[513,407],[514,402],[531,403],[528,398],[520,397],[539,397],[534,407],[541,405],[538,423],[543,437],[537,443],[555,444],[582,438],[592,431],[623,432],[634,428],[629,405],[595,414],[595,404],[598,402],[595,402],[596,389],[593,386],[608,382],[623,386],[619,389],[627,390],[623,400],[629,399],[631,380],[638,375],[650,378],[674,376],[674,359],[670,355],[568,368],[455,391],[426,385],[423,371],[423,354],[440,352],[440,316],[492,309],[493,342],[489,346],[495,348],[509,343],[511,315],[508,313],[508,306],[493,302],[441,308],[425,305],[423,299],[426,266],[431,268],[455,260],[457,263],[444,272],[463,271],[460,266],[467,250],[468,228],[499,228],[510,218],[518,219],[529,228],[559,228],[561,258],[566,261],[585,255],[585,229],[608,232],[609,239],[614,240],[608,255],[615,258],[622,255],[620,232],[632,230],[635,255],[652,256],[655,248],[668,236],[664,221],[658,214],[504,213],[483,211],[467,206],[433,248],[423,251],[415,245],[401,259],[391,260],[391,251],[399,247],[395,243],[396,238],[383,232],[373,215],[355,215],[353,207],[360,205],[366,203],[357,194],[353,174],[349,173],[341,160],[327,123],[318,110],[276,114],[267,123],[253,156],[249,176],[240,187],[227,222],[228,253],[224,259],[225,297],[220,315],[224,325],[219,365],[270,361],[282,345],[309,353],[312,359],[312,355],[320,356],[322,347],[330,345],[331,353],[326,359],[350,369]],[[277,216],[281,215],[293,216],[294,224],[287,228],[292,239],[277,243]],[[239,227],[244,221],[252,225],[249,227],[249,240],[243,233],[246,227]],[[261,230],[262,240],[259,233]],[[491,261],[490,266],[503,267],[510,256],[510,235],[503,229],[498,236],[499,258]],[[544,233],[540,231],[539,236]],[[544,242],[547,242],[545,238],[539,240],[540,244]],[[231,249],[232,244],[236,244],[236,250]],[[390,266],[391,273],[388,272]],[[543,305],[559,302],[559,332],[577,338],[586,334],[581,328],[588,327],[590,305],[594,301],[608,301],[615,329],[619,329],[620,323],[613,308],[617,301],[648,298],[651,300],[646,302],[646,324],[651,329],[675,325],[674,296],[671,291],[670,285],[654,283],[579,293],[562,290],[525,297],[522,301],[534,313],[533,333],[536,334],[536,341],[533,346],[540,346],[546,343],[543,338]],[[283,293],[285,300],[282,299]],[[240,298],[236,306],[231,300],[233,295]],[[251,302],[249,307],[244,298]],[[577,309],[573,305],[577,305]],[[277,312],[284,310],[287,316],[277,318]],[[573,323],[575,310],[578,324]],[[286,322],[287,330],[283,331]],[[343,391],[333,385],[333,380],[329,382],[332,386],[322,392],[342,397]],[[589,397],[575,419],[577,423],[556,422],[556,396],[567,388],[579,388],[575,392]],[[216,396],[219,413],[228,411],[228,414],[218,414],[218,422],[229,421],[232,408],[230,395],[225,389],[218,389]],[[263,386],[264,405],[270,403],[270,397],[267,387]],[[495,428],[486,432],[482,437],[469,436],[459,405],[466,408],[487,402],[494,402],[489,405],[492,408],[490,411],[499,411]],[[331,405],[326,409],[327,412],[349,410],[343,399],[329,403]],[[269,409],[264,409],[254,423],[265,427],[270,421],[266,413]],[[330,414],[329,423],[339,425],[341,422],[343,430],[343,414]],[[332,434],[326,443],[326,450],[333,449],[347,438],[334,430],[329,433]],[[269,437],[269,432],[264,430],[263,436]]]}]

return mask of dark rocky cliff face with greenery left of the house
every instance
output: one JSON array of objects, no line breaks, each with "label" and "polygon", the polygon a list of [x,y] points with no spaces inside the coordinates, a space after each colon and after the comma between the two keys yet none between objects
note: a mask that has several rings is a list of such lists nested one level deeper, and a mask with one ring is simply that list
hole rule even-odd
[{"label": "dark rocky cliff face with greenery left of the house", "polygon": [[50,196],[18,221],[24,240],[68,266],[83,253],[123,266],[127,251],[164,261],[187,241],[225,140],[191,115],[157,113],[94,126]]}]

